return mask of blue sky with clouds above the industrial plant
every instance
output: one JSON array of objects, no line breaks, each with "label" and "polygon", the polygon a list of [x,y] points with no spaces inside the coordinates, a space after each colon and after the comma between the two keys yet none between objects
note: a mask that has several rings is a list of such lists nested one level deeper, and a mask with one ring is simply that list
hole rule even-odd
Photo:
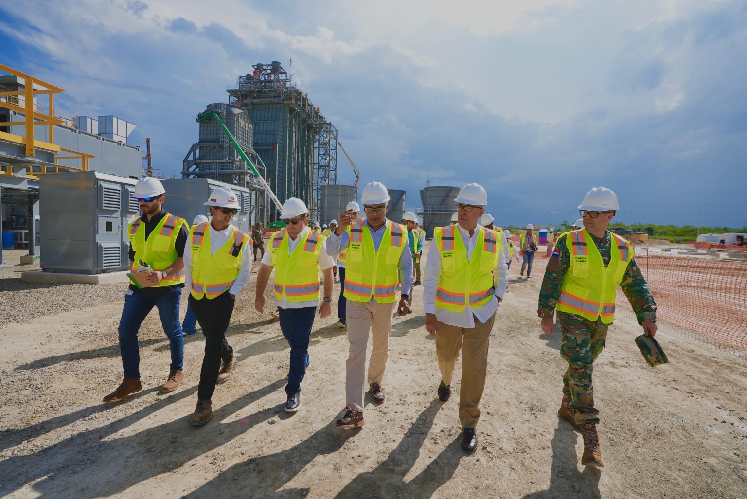
[{"label": "blue sky with clouds above the industrial plant", "polygon": [[170,176],[195,115],[280,61],[408,209],[430,176],[486,187],[503,226],[573,221],[600,185],[622,223],[747,226],[743,1],[0,0],[0,47]]}]

